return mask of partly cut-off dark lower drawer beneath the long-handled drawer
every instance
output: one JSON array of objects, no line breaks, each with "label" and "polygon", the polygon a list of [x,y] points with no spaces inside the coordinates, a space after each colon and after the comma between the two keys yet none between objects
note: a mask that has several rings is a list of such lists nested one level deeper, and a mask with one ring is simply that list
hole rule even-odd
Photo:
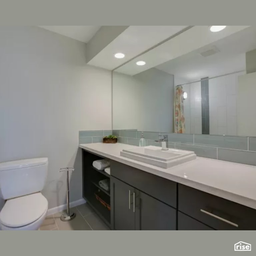
[{"label": "partly cut-off dark lower drawer beneath the long-handled drawer", "polygon": [[207,225],[178,212],[178,230],[214,230]]}]

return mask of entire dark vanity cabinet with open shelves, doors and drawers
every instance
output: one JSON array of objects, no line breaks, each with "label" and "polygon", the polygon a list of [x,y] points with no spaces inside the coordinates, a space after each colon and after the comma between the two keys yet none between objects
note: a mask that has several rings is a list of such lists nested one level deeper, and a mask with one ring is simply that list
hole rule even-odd
[{"label": "entire dark vanity cabinet with open shelves, doors and drawers", "polygon": [[256,230],[255,209],[114,160],[108,175],[92,167],[102,158],[83,151],[83,196],[113,230]]}]

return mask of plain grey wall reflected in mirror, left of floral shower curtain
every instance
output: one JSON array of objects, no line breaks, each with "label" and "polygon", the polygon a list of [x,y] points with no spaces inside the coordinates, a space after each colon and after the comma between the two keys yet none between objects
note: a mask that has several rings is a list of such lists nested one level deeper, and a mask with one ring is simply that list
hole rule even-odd
[{"label": "plain grey wall reflected in mirror, left of floral shower curtain", "polygon": [[113,72],[113,129],[173,132],[173,75]]}]

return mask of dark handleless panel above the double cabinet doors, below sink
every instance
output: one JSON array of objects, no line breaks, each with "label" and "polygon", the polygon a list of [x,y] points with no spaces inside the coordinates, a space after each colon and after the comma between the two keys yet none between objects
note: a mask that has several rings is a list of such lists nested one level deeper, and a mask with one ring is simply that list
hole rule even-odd
[{"label": "dark handleless panel above the double cabinet doors, below sink", "polygon": [[176,208],[177,183],[111,160],[111,176]]}]

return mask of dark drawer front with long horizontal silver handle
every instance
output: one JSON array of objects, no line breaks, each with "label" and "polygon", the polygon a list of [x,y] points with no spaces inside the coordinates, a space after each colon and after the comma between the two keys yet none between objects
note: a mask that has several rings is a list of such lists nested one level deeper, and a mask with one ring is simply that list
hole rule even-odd
[{"label": "dark drawer front with long horizontal silver handle", "polygon": [[256,230],[256,210],[178,184],[178,210],[217,230]]}]

